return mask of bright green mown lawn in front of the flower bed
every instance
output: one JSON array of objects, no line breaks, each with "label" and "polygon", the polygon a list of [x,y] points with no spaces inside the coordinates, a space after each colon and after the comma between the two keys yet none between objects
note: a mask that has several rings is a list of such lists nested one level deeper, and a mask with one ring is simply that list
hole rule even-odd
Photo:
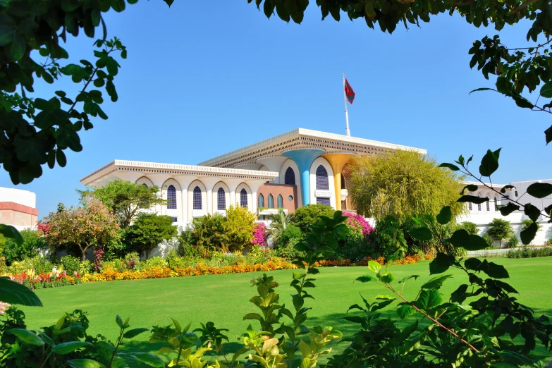
[{"label": "bright green mown lawn in front of the flower bed", "polygon": [[[552,257],[489,260],[503,264],[508,270],[508,283],[520,292],[520,302],[534,308],[536,313],[552,317],[552,288],[549,282],[552,279]],[[341,318],[350,305],[358,302],[362,304],[359,293],[368,300],[379,294],[387,294],[385,288],[374,283],[353,283],[358,276],[370,274],[367,267],[331,267],[320,271],[316,275],[317,288],[311,289],[316,300],[308,300],[306,303],[307,307],[313,307],[309,311],[307,326],[333,326],[345,336],[350,335],[356,329],[355,324]],[[419,286],[430,278],[428,261],[393,266],[391,271],[398,280],[411,274],[421,275],[417,281],[407,283],[406,298],[415,298]],[[292,272],[284,270],[268,273],[280,283],[276,292],[280,293],[281,302],[285,302],[290,309],[293,309],[290,294],[294,291],[289,286]],[[441,288],[444,299],[448,299],[450,293],[461,283],[467,283],[465,274],[460,271],[452,270],[449,273],[454,278],[446,281]],[[28,328],[37,329],[54,324],[63,312],[83,309],[89,313],[88,332],[92,335],[102,333],[111,340],[118,333],[116,314],[123,319],[130,317],[131,328],[168,325],[171,317],[183,325],[191,321],[192,328],[200,326],[200,322],[213,321],[218,328],[230,330],[228,337],[231,343],[228,344],[228,350],[235,351],[241,346],[236,336],[245,332],[248,324],[259,329],[257,321],[243,321],[242,317],[249,312],[257,312],[249,302],[256,292],[250,288],[249,281],[253,276],[261,274],[110,281],[42,289],[37,290],[37,295],[44,307],[25,307],[23,310],[27,315]],[[391,309],[390,313],[395,316]],[[127,345],[141,345],[141,349],[152,350],[150,345],[143,342],[146,339],[147,333],[144,333]],[[338,345],[337,350],[343,348],[345,344]]]}]

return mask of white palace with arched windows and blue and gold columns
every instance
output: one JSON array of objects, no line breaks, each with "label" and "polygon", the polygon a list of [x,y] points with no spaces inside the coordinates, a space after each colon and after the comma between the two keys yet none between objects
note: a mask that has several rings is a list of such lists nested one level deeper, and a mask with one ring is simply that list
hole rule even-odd
[{"label": "white palace with arched windows and blue and gold columns", "polygon": [[205,214],[224,214],[231,204],[247,207],[260,219],[278,208],[289,213],[311,203],[352,210],[348,200],[354,157],[408,149],[425,149],[377,142],[348,135],[295,129],[237,149],[197,166],[115,160],[82,178],[86,186],[109,180],[157,185],[166,205],[151,209],[185,226]]}]

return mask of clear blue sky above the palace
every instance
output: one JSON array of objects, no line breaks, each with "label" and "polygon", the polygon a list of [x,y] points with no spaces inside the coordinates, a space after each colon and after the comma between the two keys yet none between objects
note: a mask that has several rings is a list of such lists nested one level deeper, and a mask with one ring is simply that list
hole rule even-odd
[{"label": "clear blue sky above the palace", "polygon": [[[503,147],[494,182],[552,176],[547,114],[493,92],[468,96],[492,85],[470,70],[467,50],[493,28],[438,16],[388,35],[344,15],[321,21],[314,1],[301,25],[267,20],[245,0],[176,0],[171,8],[140,1],[105,19],[109,37],[128,48],[115,80],[119,100],[106,99],[109,120],[82,131],[84,150],[66,151],[66,168],[17,187],[36,192],[39,217],[58,202],[76,204],[80,178],[114,159],[197,164],[295,128],[344,134],[341,73],[357,93],[355,137],[422,147],[439,161],[474,154],[477,165],[486,149]],[[525,47],[528,27],[507,27],[503,42]],[[73,62],[92,60],[85,35],[66,49]],[[55,88],[35,84],[46,98],[59,89],[74,96],[77,87],[69,78]],[[0,186],[13,187],[5,171]]]}]

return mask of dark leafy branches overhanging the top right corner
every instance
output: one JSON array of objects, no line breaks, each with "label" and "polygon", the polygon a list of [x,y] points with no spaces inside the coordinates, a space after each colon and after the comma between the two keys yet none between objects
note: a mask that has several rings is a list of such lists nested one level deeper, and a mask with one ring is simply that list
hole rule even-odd
[{"label": "dark leafy branches overhanging the top right corner", "polygon": [[[259,10],[263,9],[267,18],[276,13],[286,22],[293,20],[301,23],[309,1],[256,0],[255,4]],[[475,27],[493,24],[497,31],[502,30],[505,25],[527,24],[520,20],[529,20],[532,22],[527,31],[527,41],[532,42],[529,47],[508,48],[501,42],[499,35],[485,36],[475,41],[468,51],[473,55],[470,68],[477,65],[477,70],[481,70],[487,80],[489,74],[498,77],[495,88],[477,90],[493,90],[510,97],[517,106],[552,114],[552,63],[548,53],[548,44],[552,42],[548,37],[552,33],[552,22],[548,1],[319,0],[317,6],[320,7],[322,20],[331,15],[339,21],[343,11],[350,20],[362,18],[368,27],[374,28],[377,24],[382,32],[389,33],[401,23],[408,29],[408,23],[419,26],[420,20],[427,23],[431,16],[441,13],[448,13],[450,16],[459,14]],[[546,38],[546,42],[538,43],[539,38]],[[527,54],[522,50],[527,50]],[[536,102],[529,102],[529,99],[522,97],[523,92],[536,91],[541,82],[543,85]],[[541,103],[537,105],[539,100]],[[552,126],[544,134],[546,143],[552,142]]]}]

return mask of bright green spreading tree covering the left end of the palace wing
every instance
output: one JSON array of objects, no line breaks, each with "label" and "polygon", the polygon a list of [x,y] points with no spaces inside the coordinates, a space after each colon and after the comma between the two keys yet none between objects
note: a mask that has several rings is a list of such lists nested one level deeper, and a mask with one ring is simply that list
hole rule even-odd
[{"label": "bright green spreading tree covering the left end of the palace wing", "polygon": [[166,201],[159,196],[159,187],[131,183],[128,180],[111,180],[100,188],[77,190],[81,198],[93,195],[102,201],[126,228],[135,219],[140,208],[149,208]]}]

